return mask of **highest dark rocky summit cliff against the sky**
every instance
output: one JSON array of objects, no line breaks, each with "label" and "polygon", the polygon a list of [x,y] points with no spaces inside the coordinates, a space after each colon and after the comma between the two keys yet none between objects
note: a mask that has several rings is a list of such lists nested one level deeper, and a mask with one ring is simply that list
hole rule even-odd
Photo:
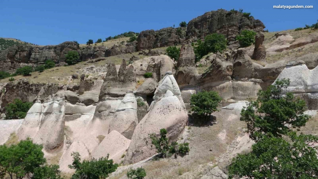
[{"label": "highest dark rocky summit cliff against the sky", "polygon": [[243,29],[262,31],[264,24],[254,17],[244,17],[239,11],[216,10],[189,21],[186,39],[204,38],[211,33],[225,35],[229,43],[235,41],[236,35]]}]

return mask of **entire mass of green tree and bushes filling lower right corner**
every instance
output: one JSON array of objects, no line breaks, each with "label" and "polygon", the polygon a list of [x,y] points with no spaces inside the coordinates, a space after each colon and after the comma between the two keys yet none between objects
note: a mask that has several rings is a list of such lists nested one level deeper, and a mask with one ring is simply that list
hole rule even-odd
[{"label": "entire mass of green tree and bushes filling lower right corner", "polygon": [[[256,143],[252,152],[239,154],[229,166],[229,178],[294,178],[314,179],[318,176],[318,137],[297,134],[293,128],[305,126],[306,103],[292,93],[283,94],[289,79],[277,80],[241,112],[250,138]],[[288,141],[286,141],[288,139]]]}]

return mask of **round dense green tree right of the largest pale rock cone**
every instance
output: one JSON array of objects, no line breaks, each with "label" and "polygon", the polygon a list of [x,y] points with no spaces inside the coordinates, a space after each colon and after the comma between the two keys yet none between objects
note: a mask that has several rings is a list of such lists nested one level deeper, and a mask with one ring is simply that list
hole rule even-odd
[{"label": "round dense green tree right of the largest pale rock cone", "polygon": [[190,110],[199,116],[204,116],[205,121],[210,119],[211,113],[217,111],[222,98],[215,91],[205,91],[193,94],[190,99]]}]

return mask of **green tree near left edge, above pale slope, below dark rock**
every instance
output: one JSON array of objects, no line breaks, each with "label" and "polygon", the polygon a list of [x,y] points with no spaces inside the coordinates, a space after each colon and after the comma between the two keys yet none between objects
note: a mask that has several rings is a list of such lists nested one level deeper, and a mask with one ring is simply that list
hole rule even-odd
[{"label": "green tree near left edge, above pale slope, below dark rock", "polygon": [[14,99],[12,103],[7,104],[5,107],[5,119],[24,119],[32,105],[33,103],[31,102]]}]

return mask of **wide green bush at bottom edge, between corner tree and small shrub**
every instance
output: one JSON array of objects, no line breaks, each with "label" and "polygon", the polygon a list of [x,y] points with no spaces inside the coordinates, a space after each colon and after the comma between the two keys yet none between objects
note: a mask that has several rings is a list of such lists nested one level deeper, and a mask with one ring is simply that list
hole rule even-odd
[{"label": "wide green bush at bottom edge, between corner tree and small shrub", "polygon": [[86,179],[100,179],[107,178],[108,174],[116,171],[118,164],[113,163],[113,160],[108,160],[109,154],[107,157],[101,157],[99,160],[93,158],[92,160],[83,160],[78,152],[73,152],[73,163],[68,167],[70,169],[75,169],[75,173],[72,176],[72,179],[86,178]]}]

